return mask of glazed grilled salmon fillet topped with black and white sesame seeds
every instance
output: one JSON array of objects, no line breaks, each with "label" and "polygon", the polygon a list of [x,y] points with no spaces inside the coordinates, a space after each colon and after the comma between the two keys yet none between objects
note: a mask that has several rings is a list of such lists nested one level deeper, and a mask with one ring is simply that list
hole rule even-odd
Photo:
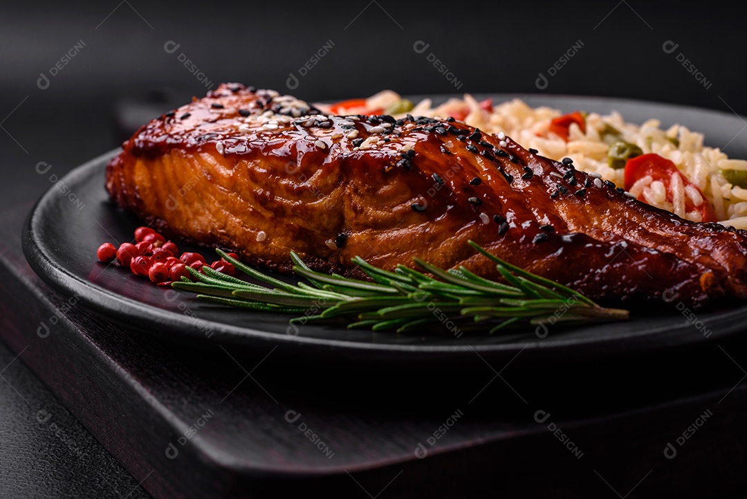
[{"label": "glazed grilled salmon fillet topped with black and white sesame seeds", "polygon": [[473,240],[602,303],[747,297],[746,232],[683,220],[452,119],[326,116],[222,84],[140,128],[106,188],[159,231],[282,272],[293,250],[347,275],[360,255],[498,277]]}]

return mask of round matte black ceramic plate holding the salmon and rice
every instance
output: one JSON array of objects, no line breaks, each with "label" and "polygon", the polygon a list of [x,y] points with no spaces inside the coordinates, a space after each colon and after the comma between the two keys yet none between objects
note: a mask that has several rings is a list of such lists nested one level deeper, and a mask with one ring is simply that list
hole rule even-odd
[{"label": "round matte black ceramic plate holding the salmon and rice", "polygon": [[[496,102],[512,97],[515,96],[494,96]],[[525,101],[532,106],[549,105],[562,111],[616,110],[633,123],[652,117],[663,126],[681,123],[692,130],[704,131],[707,145],[721,147],[733,158],[747,158],[747,134],[740,134],[745,122],[735,114],[622,99],[528,96]],[[510,336],[462,338],[430,331],[423,331],[422,335],[397,335],[330,325],[301,326],[296,331],[288,327],[287,315],[212,306],[190,294],[156,287],[116,265],[107,267],[99,263],[96,260],[99,244],[130,241],[138,225],[137,220],[120,213],[108,202],[104,190],[105,164],[115,153],[109,152],[76,168],[40,199],[25,228],[25,255],[31,267],[52,288],[75,295],[85,306],[111,320],[163,338],[202,340],[203,345],[212,346],[243,345],[258,351],[279,345],[282,352],[317,359],[323,356],[327,361],[480,362],[479,353],[485,359],[501,358],[507,362],[525,350],[544,361],[568,362],[694,344],[734,335],[743,329],[747,306],[701,314],[694,323],[672,303],[660,306],[655,316],[634,316],[627,322],[570,330],[551,328],[545,338],[538,338],[534,329]]]}]

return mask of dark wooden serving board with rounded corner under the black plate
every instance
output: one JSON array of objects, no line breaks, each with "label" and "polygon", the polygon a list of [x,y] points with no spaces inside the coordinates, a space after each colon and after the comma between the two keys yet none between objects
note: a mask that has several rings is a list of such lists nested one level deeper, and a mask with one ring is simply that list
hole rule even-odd
[{"label": "dark wooden serving board with rounded corner under the black plate", "polygon": [[684,498],[747,485],[742,338],[560,368],[476,355],[459,371],[187,347],[46,288],[22,258],[23,214],[1,219],[2,338],[155,498]]}]

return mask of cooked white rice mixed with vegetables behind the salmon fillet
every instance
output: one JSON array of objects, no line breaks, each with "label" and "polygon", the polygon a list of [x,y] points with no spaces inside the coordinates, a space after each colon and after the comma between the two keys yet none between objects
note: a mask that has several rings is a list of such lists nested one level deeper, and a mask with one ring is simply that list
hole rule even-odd
[{"label": "cooked white rice mixed with vegetables behind the salmon fillet", "polygon": [[[385,108],[400,96],[385,90],[368,99],[371,108]],[[530,108],[520,99],[494,105],[492,112],[480,107],[471,95],[464,99],[450,99],[433,107],[430,99],[415,105],[410,114],[428,117],[448,117],[453,112],[468,111],[465,123],[488,133],[501,131],[527,149],[537,149],[539,155],[553,158],[573,158],[578,170],[601,174],[616,185],[624,185],[624,169],[615,170],[607,164],[607,143],[601,140],[605,124],[616,128],[623,140],[636,144],[644,154],[654,152],[672,161],[692,184],[697,185],[705,196],[705,201],[713,205],[716,217],[725,225],[737,229],[747,229],[747,189],[731,185],[722,170],[747,170],[747,161],[730,159],[719,148],[703,145],[704,136],[690,131],[682,125],[672,125],[662,129],[659,120],[651,119],[642,125],[627,123],[618,112],[608,115],[589,113],[586,116],[586,132],[575,123],[571,124],[568,142],[548,131],[550,122],[562,113],[548,107]],[[583,110],[582,110],[583,111]],[[678,143],[675,145],[677,139]],[[651,177],[639,179],[630,187],[636,197],[642,194],[651,205],[663,208],[693,221],[701,221],[701,215],[693,210],[685,211],[686,198],[692,205],[703,202],[698,190],[684,186],[681,178],[672,176],[670,182],[672,202],[666,200],[666,190],[662,182],[652,181]],[[689,187],[689,188],[688,188]]]}]

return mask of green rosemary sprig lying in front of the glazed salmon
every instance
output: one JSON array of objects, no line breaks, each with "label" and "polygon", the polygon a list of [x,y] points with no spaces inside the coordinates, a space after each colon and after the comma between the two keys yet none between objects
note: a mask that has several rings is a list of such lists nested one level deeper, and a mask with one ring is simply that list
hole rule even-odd
[{"label": "green rosemary sprig lying in front of the glazed salmon", "polygon": [[[291,323],[344,320],[348,328],[373,331],[419,331],[443,324],[455,335],[537,326],[624,320],[627,310],[606,309],[557,282],[536,276],[501,260],[470,241],[474,249],[495,262],[505,282],[471,273],[465,267],[443,270],[420,258],[426,273],[397,266],[394,272],[353,258],[371,282],[311,270],[291,252],[294,272],[307,282],[291,285],[253,269],[217,250],[237,270],[264,285],[228,276],[210,267],[202,273],[187,267],[196,279],[173,282],[173,288],[195,293],[200,300],[263,312],[301,314]],[[459,334],[457,334],[459,333]]]}]

